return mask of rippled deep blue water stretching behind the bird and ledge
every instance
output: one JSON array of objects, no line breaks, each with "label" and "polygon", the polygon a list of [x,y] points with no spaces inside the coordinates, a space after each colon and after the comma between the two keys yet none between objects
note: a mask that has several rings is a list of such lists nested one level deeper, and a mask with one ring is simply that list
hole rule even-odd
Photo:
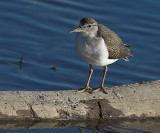
[{"label": "rippled deep blue water stretching behind the bird and ledge", "polygon": [[[105,86],[160,79],[159,9],[159,0],[1,0],[0,91],[84,87],[89,66],[68,31],[86,16],[115,31],[135,55],[109,65]],[[94,67],[91,87],[102,70]]]}]

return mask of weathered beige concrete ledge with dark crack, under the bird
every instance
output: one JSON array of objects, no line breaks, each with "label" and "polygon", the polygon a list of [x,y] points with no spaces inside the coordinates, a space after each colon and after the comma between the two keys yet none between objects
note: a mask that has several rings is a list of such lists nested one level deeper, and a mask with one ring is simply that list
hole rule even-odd
[{"label": "weathered beige concrete ledge with dark crack, under the bird", "polygon": [[0,91],[0,119],[160,117],[160,80],[107,87],[108,94]]}]

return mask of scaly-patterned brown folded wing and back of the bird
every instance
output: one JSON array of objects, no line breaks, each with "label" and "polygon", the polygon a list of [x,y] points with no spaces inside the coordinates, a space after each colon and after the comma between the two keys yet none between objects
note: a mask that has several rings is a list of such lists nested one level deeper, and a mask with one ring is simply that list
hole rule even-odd
[{"label": "scaly-patterned brown folded wing and back of the bird", "polygon": [[133,55],[120,37],[106,26],[98,25],[97,36],[104,39],[109,51],[109,59],[121,59]]}]

